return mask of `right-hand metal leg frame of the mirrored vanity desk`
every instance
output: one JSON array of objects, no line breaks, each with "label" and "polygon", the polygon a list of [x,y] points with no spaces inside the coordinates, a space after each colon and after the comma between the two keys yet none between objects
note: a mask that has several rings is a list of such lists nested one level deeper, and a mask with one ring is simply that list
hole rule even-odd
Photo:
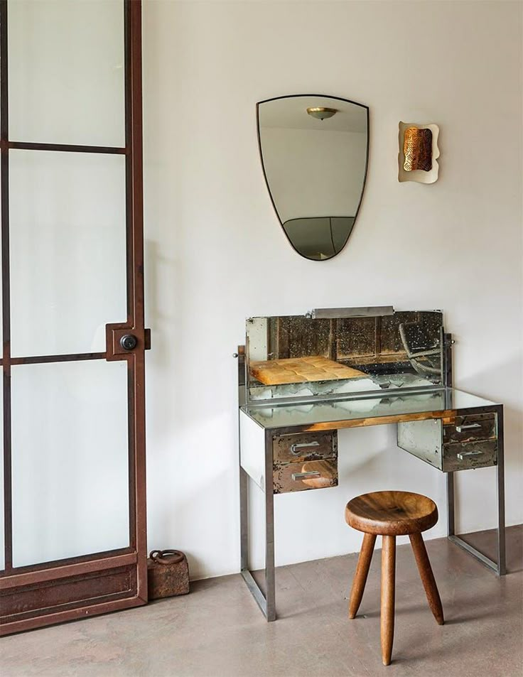
[{"label": "right-hand metal leg frame of the mirrored vanity desk", "polygon": [[448,539],[463,550],[467,551],[482,564],[493,569],[498,576],[505,576],[507,565],[505,560],[505,453],[503,445],[503,409],[496,411],[497,415],[497,467],[496,467],[496,502],[497,502],[497,562],[480,553],[463,541],[463,538],[455,535],[454,515],[454,477],[453,473],[447,474],[447,519]]}]

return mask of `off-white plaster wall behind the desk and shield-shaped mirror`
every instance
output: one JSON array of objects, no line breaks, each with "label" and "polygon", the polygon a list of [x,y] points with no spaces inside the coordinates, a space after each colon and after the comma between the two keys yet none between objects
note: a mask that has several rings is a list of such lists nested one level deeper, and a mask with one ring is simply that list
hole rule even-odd
[{"label": "off-white plaster wall behind the desk and shield-shaped mirror", "polygon": [[[193,577],[238,570],[231,354],[249,315],[443,308],[455,385],[505,403],[507,521],[523,521],[521,11],[145,2],[149,544],[186,551]],[[370,106],[360,216],[326,262],[286,242],[257,149],[255,102],[306,92]],[[400,120],[441,126],[436,184],[398,183]],[[340,433],[340,487],[276,498],[279,563],[357,550],[343,519],[357,492],[413,489],[443,508],[444,476],[394,434]],[[493,472],[460,480],[463,529],[493,526]],[[444,531],[441,519],[430,536]]]}]

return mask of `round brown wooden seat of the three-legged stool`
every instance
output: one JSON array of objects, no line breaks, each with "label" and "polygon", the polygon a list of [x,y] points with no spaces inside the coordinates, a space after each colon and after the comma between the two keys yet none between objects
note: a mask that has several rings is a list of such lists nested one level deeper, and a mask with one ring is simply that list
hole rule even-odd
[{"label": "round brown wooden seat of the three-legged stool", "polygon": [[372,492],[347,503],[345,520],[352,529],[380,536],[426,531],[438,521],[438,508],[426,496],[411,492]]}]

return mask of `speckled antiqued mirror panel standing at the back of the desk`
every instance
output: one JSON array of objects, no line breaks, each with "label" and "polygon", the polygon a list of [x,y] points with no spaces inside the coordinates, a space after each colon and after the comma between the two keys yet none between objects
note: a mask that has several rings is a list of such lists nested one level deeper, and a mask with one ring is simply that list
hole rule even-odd
[{"label": "speckled antiqued mirror panel standing at the back of the desk", "polygon": [[249,400],[307,398],[441,384],[442,314],[247,320]]}]

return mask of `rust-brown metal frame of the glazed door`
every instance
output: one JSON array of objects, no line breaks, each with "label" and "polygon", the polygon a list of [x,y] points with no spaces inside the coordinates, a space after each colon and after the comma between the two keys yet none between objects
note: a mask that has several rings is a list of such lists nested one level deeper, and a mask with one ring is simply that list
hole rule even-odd
[{"label": "rust-brown metal frame of the glazed door", "polygon": [[[4,534],[5,569],[0,573],[0,634],[143,605],[147,602],[144,240],[141,104],[141,0],[124,2],[125,146],[24,143],[9,139],[8,1],[0,0],[1,261],[4,347]],[[9,284],[9,151],[119,153],[126,156],[127,321],[106,327],[103,353],[11,357]],[[130,350],[124,335],[136,339]],[[132,341],[131,341],[132,343]],[[128,345],[129,348],[129,345]],[[77,360],[126,360],[129,395],[129,547],[23,567],[13,566],[11,487],[11,365]]]}]

